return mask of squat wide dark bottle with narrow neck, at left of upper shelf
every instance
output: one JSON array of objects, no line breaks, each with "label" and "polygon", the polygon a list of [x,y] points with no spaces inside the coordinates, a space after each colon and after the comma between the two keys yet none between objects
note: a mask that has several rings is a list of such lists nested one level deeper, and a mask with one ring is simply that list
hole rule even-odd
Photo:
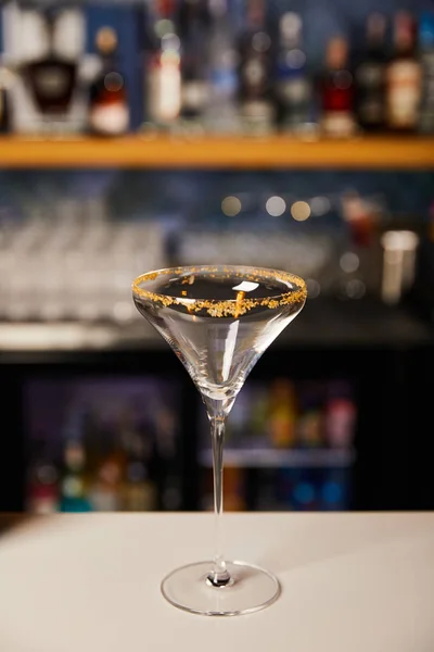
[{"label": "squat wide dark bottle with narrow neck, at left of upper shelf", "polygon": [[26,63],[23,75],[40,113],[59,118],[71,106],[77,84],[77,63],[59,55],[54,50],[58,9],[46,9],[43,16],[48,52],[42,59]]}]

